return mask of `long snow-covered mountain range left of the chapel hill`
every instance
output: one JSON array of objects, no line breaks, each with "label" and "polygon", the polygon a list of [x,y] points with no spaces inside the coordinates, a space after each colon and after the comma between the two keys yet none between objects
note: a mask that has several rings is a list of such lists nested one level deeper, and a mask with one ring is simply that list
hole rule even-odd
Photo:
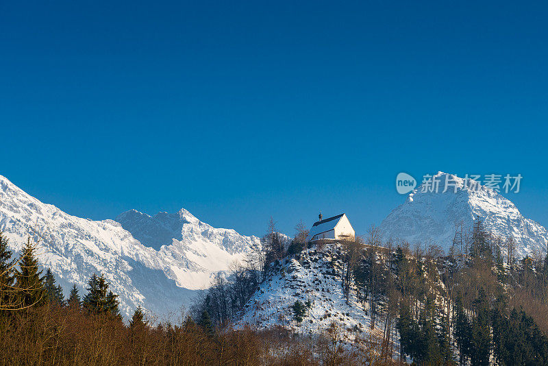
[{"label": "long snow-covered mountain range left of the chapel hill", "polygon": [[154,217],[132,210],[117,219],[69,215],[0,175],[0,230],[10,247],[20,251],[36,232],[40,263],[51,267],[65,293],[73,283],[85,291],[90,276],[103,273],[125,315],[139,304],[157,315],[188,306],[197,290],[208,288],[214,276],[260,243],[213,228],[184,209]]}]

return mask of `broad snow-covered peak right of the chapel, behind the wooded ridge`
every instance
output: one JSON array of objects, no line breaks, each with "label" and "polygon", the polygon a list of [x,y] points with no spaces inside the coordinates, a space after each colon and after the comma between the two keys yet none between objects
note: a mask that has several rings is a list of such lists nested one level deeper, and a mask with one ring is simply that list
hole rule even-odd
[{"label": "broad snow-covered peak right of the chapel, behind the wooded ridge", "polygon": [[[434,175],[434,180],[440,182],[437,193],[429,189],[432,186],[421,184],[410,193],[405,203],[382,221],[380,229],[386,238],[404,239],[410,243],[430,241],[447,251],[453,242],[456,225],[470,229],[473,219],[479,216],[484,220],[485,228],[493,234],[515,239],[518,256],[530,254],[535,248],[546,251],[546,228],[523,217],[510,200],[493,189],[443,172]],[[451,185],[443,193],[445,182],[455,184],[456,192]]]}]

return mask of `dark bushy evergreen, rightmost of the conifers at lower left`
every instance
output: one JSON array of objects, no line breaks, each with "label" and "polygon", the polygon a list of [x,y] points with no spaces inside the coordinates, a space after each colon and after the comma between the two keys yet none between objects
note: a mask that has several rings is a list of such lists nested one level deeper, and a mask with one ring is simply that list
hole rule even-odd
[{"label": "dark bushy evergreen, rightmost of the conifers at lower left", "polygon": [[112,291],[108,291],[109,283],[105,276],[94,274],[88,282],[88,293],[84,296],[84,308],[93,314],[108,314],[120,317],[118,300]]}]

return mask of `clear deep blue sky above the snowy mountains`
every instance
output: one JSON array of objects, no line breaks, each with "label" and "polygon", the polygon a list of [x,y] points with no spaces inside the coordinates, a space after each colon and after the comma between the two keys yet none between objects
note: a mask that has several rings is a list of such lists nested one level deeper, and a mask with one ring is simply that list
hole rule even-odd
[{"label": "clear deep blue sky above the snowy mountains", "polygon": [[548,225],[548,5],[2,1],[0,174],[73,215],[272,215],[401,204],[395,176],[521,173]]}]

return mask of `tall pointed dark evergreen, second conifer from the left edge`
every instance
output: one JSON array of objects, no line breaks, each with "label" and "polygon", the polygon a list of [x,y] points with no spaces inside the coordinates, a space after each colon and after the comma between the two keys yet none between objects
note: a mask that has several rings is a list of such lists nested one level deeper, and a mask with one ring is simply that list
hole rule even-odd
[{"label": "tall pointed dark evergreen, second conifer from the left edge", "polygon": [[40,277],[42,271],[38,269],[38,259],[34,255],[34,249],[34,243],[30,238],[27,239],[19,260],[19,269],[16,272],[18,302],[21,308],[39,306],[48,300],[42,283],[43,278]]}]

